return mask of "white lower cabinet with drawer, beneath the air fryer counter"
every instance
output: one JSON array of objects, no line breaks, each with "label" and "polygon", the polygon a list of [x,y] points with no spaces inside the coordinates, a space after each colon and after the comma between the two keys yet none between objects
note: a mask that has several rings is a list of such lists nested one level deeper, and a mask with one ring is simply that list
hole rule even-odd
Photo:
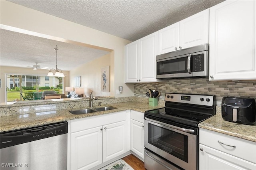
[{"label": "white lower cabinet with drawer, beneath the air fryer counter", "polygon": [[200,170],[255,170],[256,143],[200,128]]}]

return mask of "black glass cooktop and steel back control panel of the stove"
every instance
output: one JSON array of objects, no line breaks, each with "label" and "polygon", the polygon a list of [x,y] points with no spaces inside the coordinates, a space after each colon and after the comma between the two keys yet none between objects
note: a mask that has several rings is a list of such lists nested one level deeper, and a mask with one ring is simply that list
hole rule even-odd
[{"label": "black glass cooktop and steel back control panel of the stove", "polygon": [[146,111],[145,114],[198,126],[198,123],[215,115],[215,96],[166,93],[165,107]]}]

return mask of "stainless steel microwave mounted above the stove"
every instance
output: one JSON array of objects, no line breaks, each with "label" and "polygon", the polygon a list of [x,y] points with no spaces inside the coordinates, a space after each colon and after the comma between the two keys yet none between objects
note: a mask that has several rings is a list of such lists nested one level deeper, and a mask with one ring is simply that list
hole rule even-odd
[{"label": "stainless steel microwave mounted above the stove", "polygon": [[202,78],[209,74],[208,43],[156,56],[156,78]]}]

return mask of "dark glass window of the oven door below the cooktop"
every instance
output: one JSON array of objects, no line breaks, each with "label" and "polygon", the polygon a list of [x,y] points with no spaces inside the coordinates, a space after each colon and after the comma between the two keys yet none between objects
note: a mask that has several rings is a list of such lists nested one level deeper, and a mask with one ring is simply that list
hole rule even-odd
[{"label": "dark glass window of the oven door below the cooktop", "polygon": [[188,162],[188,136],[148,123],[148,143]]}]

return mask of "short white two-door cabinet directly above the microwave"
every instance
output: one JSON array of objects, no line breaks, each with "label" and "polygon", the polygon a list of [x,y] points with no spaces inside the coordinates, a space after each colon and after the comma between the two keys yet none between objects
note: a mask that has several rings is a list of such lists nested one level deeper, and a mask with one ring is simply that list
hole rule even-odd
[{"label": "short white two-door cabinet directly above the microwave", "polygon": [[209,9],[158,31],[158,55],[209,42]]}]

